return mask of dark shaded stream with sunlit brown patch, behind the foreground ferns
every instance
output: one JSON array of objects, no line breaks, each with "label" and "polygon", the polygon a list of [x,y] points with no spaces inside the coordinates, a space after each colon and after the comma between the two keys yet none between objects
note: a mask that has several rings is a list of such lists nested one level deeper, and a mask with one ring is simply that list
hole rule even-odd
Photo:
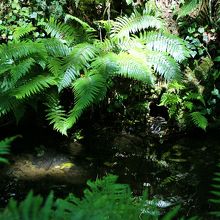
[{"label": "dark shaded stream with sunlit brown patch, behind the foreground ferns", "polygon": [[161,208],[180,203],[184,216],[200,214],[206,219],[220,158],[218,134],[219,130],[193,133],[160,143],[105,128],[85,133],[80,144],[72,144],[75,153],[67,150],[71,143],[48,134],[46,142],[15,141],[11,164],[1,168],[0,207],[10,198],[22,200],[30,190],[43,196],[51,190],[56,197],[70,192],[82,196],[88,179],[112,173],[129,184],[134,195],[148,188],[149,198],[158,199]]}]

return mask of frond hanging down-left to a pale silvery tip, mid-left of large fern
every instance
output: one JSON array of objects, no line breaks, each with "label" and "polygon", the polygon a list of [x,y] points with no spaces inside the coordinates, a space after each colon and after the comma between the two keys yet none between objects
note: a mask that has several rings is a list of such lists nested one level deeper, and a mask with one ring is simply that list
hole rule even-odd
[{"label": "frond hanging down-left to a pale silvery tip, mid-left of large fern", "polygon": [[97,53],[97,48],[89,43],[81,43],[73,47],[70,55],[64,60],[66,70],[58,84],[59,91],[70,86],[73,80],[79,76],[80,70],[89,68],[91,60],[95,58]]}]

